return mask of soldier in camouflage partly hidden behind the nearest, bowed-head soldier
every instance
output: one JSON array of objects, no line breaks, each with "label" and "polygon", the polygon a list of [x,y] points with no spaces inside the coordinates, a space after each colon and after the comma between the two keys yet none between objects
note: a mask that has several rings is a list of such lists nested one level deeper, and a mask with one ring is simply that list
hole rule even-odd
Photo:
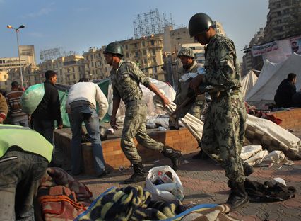
[{"label": "soldier in camouflage partly hidden behind the nearest, bowed-head soldier", "polygon": [[[182,47],[177,57],[179,57],[182,63],[182,67],[179,69],[179,73],[178,73],[179,78],[187,73],[196,73],[198,72],[198,68],[201,68],[201,65],[194,60],[194,51],[190,47]],[[189,82],[190,82],[189,80],[184,82],[183,81],[179,82],[176,98],[174,101],[175,104],[177,105],[181,104],[186,98],[185,96],[181,95],[181,92],[184,92],[185,94],[185,92],[188,90]],[[196,96],[196,101],[194,102],[194,105],[191,107],[188,113],[201,120],[201,115],[204,112],[205,106],[206,106],[205,94]],[[175,126],[172,125],[172,122],[170,122],[170,129],[171,130],[175,129]],[[199,147],[201,147],[200,144]],[[205,153],[200,151],[199,154],[196,154],[196,156],[193,157],[193,159],[198,159],[198,158],[208,159],[208,157],[206,156],[207,155]]]}]

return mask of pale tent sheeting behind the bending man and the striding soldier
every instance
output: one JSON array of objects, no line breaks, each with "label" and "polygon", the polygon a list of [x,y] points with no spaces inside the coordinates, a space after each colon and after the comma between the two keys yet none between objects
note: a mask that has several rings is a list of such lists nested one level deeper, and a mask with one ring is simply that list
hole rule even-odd
[{"label": "pale tent sheeting behind the bending man and the striding soldier", "polygon": [[[167,98],[169,98],[170,101],[173,101],[175,99],[175,90],[172,89],[172,86],[170,86],[170,84],[155,79],[151,79],[151,82],[155,84],[155,86],[157,86],[158,89],[163,90],[165,96],[167,96]],[[110,78],[102,79],[98,82],[95,82],[95,84],[98,84],[103,94],[107,96],[107,101],[109,103],[109,109],[107,111],[107,114],[105,115],[105,118],[102,119],[101,123],[109,122],[110,115],[112,113],[112,97],[113,97]],[[68,91],[71,88],[71,85],[56,84],[56,86],[57,89],[59,90],[59,101],[61,103],[61,116],[63,118],[63,124],[65,127],[70,127],[68,114],[66,113],[66,99],[68,96]],[[159,115],[161,113],[165,113],[165,111],[163,111],[162,109],[155,108],[153,104],[153,96],[155,94],[149,89],[147,89],[145,86],[141,85],[141,89],[143,91],[143,99],[146,101],[148,105],[148,115]],[[117,113],[117,117],[120,115],[124,115],[124,113],[125,113],[125,106],[124,103],[121,101]]]}]

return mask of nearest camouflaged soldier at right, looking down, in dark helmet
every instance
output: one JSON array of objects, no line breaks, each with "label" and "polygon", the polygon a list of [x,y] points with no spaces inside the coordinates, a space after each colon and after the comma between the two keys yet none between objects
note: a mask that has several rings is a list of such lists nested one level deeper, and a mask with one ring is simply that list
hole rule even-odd
[{"label": "nearest camouflaged soldier at right, looking down, in dark helmet", "polygon": [[201,45],[207,45],[206,72],[190,82],[191,89],[197,91],[202,82],[221,88],[211,93],[201,147],[207,154],[221,158],[225,176],[230,180],[231,193],[227,203],[237,208],[248,201],[240,158],[247,113],[240,92],[240,68],[235,46],[225,35],[216,33],[214,23],[206,13],[196,13],[190,18],[189,34]]}]

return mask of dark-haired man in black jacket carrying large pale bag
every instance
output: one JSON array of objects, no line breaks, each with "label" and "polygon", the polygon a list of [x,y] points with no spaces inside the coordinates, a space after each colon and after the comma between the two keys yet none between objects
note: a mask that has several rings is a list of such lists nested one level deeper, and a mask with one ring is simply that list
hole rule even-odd
[{"label": "dark-haired man in black jacket carrying large pale bag", "polygon": [[[57,73],[49,70],[45,72],[45,79],[45,94],[32,114],[33,129],[53,144],[54,120],[57,120],[57,128],[63,128],[59,104],[59,92],[54,86],[55,83],[57,83]],[[53,164],[52,166],[55,165]]]}]

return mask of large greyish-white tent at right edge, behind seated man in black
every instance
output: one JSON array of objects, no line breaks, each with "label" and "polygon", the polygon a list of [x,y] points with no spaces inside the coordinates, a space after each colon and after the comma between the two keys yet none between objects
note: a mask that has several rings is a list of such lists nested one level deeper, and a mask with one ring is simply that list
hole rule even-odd
[{"label": "large greyish-white tent at right edge, behind seated man in black", "polygon": [[259,108],[266,103],[273,103],[276,89],[290,73],[297,74],[295,85],[299,91],[301,86],[301,55],[294,53],[281,63],[272,63],[266,60],[256,84],[245,96],[245,101]]}]

